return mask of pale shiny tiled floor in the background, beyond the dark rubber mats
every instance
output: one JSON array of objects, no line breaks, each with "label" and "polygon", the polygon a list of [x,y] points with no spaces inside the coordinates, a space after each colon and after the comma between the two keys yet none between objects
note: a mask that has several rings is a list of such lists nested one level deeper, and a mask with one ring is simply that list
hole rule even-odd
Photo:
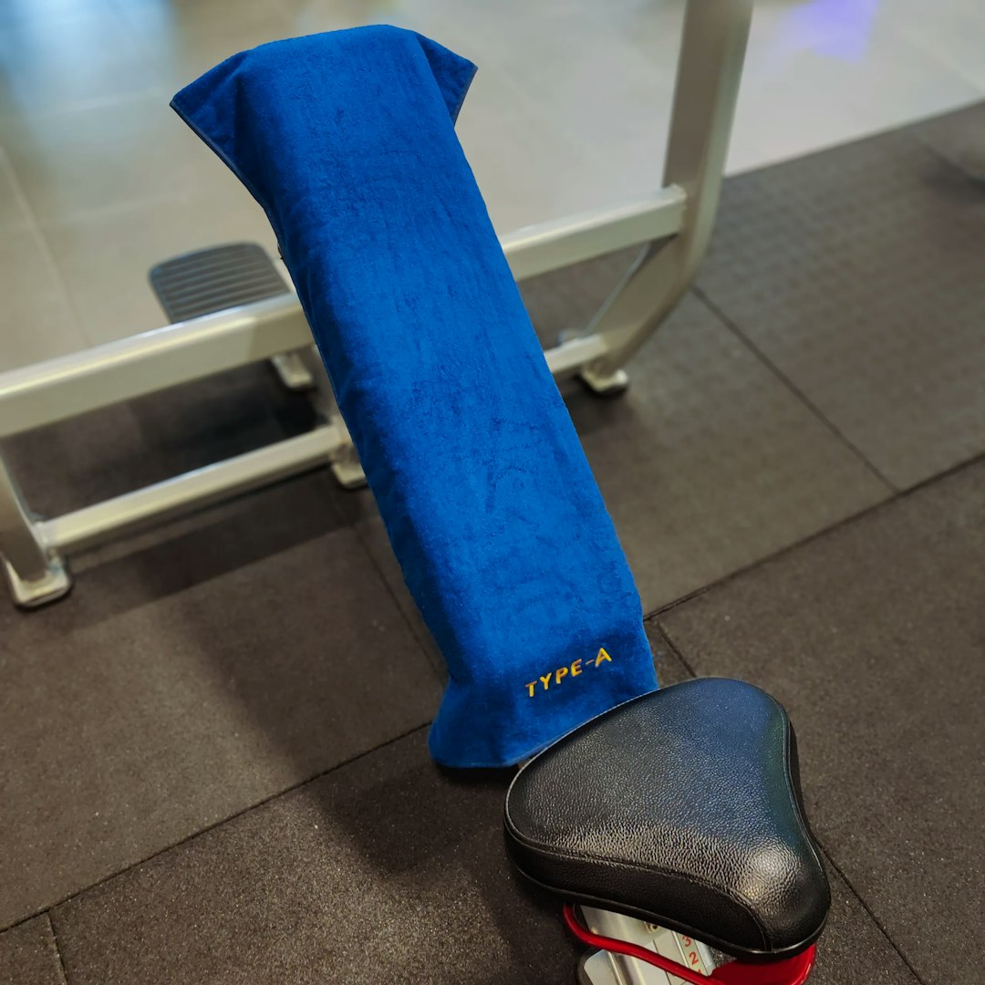
[{"label": "pale shiny tiled floor in the background, beyond the dark rubber mats", "polygon": [[[154,328],[148,268],[260,210],[167,108],[262,41],[368,23],[480,65],[460,133],[497,229],[659,183],[683,0],[0,0],[0,369]],[[980,0],[759,0],[729,170],[985,96]]]}]

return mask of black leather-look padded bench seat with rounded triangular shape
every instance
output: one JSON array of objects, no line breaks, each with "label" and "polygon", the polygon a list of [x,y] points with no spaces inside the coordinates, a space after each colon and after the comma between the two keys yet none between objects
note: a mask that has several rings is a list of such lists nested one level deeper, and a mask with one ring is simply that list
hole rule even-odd
[{"label": "black leather-look padded bench seat with rounded triangular shape", "polygon": [[627,701],[531,759],[506,795],[520,871],[737,957],[821,934],[830,891],[782,705],[703,678]]}]

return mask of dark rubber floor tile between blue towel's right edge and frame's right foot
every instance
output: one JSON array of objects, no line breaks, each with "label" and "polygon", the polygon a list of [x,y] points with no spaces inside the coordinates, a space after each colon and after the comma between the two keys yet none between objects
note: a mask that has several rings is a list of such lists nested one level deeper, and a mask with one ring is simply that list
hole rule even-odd
[{"label": "dark rubber floor tile between blue towel's right edge and frame's right foot", "polygon": [[563,393],[644,612],[888,494],[694,298],[628,369],[621,398]]}]

